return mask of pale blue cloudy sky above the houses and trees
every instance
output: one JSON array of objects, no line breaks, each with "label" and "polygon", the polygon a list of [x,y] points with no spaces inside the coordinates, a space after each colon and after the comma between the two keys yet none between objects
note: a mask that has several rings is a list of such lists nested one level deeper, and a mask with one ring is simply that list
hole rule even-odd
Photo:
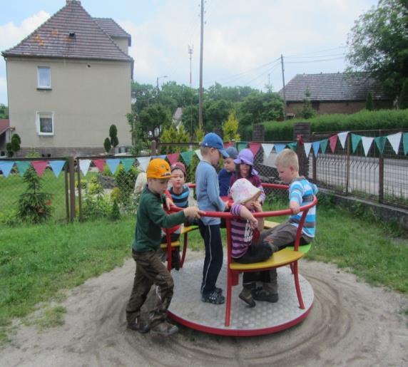
[{"label": "pale blue cloudy sky above the houses and trees", "polygon": [[[16,46],[66,4],[65,0],[7,1],[0,12],[0,51]],[[133,80],[199,86],[200,0],[81,0],[93,17],[112,18],[131,34]],[[300,73],[347,67],[347,34],[377,0],[207,0],[204,4],[203,86],[282,88]],[[7,103],[6,63],[0,57],[0,103]]]}]

